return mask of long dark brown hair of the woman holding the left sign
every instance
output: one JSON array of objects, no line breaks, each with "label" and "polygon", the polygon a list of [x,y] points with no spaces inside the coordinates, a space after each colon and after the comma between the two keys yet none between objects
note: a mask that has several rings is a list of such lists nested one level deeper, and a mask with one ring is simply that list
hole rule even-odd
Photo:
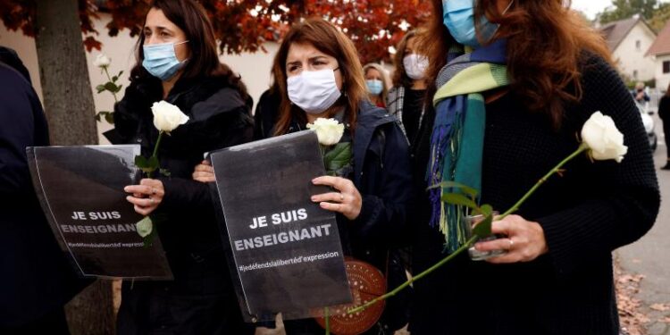
[{"label": "long dark brown hair of the woman holding the left sign", "polygon": [[[160,9],[163,15],[186,34],[190,58],[184,65],[180,79],[197,79],[220,77],[234,88],[238,88],[246,96],[246,88],[239,76],[230,70],[228,65],[219,61],[216,51],[214,27],[209,20],[205,9],[194,0],[155,0],[150,8]],[[144,26],[143,23],[142,25]],[[150,77],[142,66],[144,61],[145,36],[139,34],[136,47],[137,63],[130,72],[130,79],[144,79]]]}]

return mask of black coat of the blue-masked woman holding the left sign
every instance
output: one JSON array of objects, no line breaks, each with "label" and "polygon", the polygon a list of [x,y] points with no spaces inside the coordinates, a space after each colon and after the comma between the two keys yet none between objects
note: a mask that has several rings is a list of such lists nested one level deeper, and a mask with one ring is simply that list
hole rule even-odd
[{"label": "black coat of the blue-masked woman holding the left sign", "polygon": [[[115,106],[114,121],[124,143],[138,143],[144,155],[153,151],[158,130],[150,107],[162,99],[160,80],[133,80]],[[245,143],[253,120],[239,90],[220,78],[179,80],[164,99],[189,117],[188,123],[163,136],[158,152],[165,188],[157,211],[167,214],[156,224],[174,281],[124,282],[118,333],[244,334],[223,254],[210,188],[191,180],[205,152]]]}]

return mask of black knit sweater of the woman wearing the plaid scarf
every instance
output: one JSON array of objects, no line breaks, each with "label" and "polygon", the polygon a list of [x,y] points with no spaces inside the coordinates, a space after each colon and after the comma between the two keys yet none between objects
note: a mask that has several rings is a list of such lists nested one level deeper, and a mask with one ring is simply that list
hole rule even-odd
[{"label": "black knit sweater of the woman wearing the plaid scarf", "polygon": [[[559,130],[547,116],[528,111],[514,90],[486,106],[482,203],[507,210],[574,152],[576,134],[596,111],[611,116],[624,134],[624,161],[577,157],[523,204],[516,214],[540,223],[547,254],[519,264],[460,255],[415,282],[413,335],[618,334],[611,252],[651,228],[660,196],[640,113],[616,71],[590,56],[582,89],[580,103],[566,104]],[[427,162],[430,130],[423,129],[417,163]],[[417,217],[414,273],[445,256],[444,237],[426,215]]]}]

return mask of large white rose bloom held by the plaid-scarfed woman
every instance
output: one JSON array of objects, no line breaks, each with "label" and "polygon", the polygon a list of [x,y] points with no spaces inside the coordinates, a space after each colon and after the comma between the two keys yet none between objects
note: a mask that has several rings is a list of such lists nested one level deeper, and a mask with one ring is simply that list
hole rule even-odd
[{"label": "large white rose bloom held by the plaid-scarfed woman", "polygon": [[582,141],[589,147],[593,159],[614,159],[621,163],[628,147],[624,146],[624,134],[616,129],[614,120],[600,112],[593,113],[582,127]]}]

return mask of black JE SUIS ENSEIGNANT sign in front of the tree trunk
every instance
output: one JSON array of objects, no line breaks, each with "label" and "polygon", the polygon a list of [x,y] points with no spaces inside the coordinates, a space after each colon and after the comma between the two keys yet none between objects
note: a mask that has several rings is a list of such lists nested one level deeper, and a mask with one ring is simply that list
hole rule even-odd
[{"label": "black JE SUIS ENSEIGNANT sign in front of the tree trunk", "polygon": [[29,147],[30,173],[46,219],[85,277],[171,279],[160,240],[145,247],[142,216],[123,187],[137,184],[138,146]]}]

